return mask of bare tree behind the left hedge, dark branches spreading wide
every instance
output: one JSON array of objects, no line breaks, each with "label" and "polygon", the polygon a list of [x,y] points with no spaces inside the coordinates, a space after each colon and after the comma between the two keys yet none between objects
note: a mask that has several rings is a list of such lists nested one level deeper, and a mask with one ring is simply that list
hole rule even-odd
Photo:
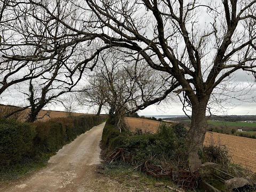
[{"label": "bare tree behind the left hedge, dark branches spreading wide", "polygon": [[110,46],[92,43],[101,35],[93,34],[87,25],[83,30],[73,28],[82,24],[72,1],[0,3],[0,94],[12,85],[29,82],[28,91],[22,91],[31,109],[28,121],[34,122],[39,111],[71,91],[85,68],[93,68],[100,51]]}]

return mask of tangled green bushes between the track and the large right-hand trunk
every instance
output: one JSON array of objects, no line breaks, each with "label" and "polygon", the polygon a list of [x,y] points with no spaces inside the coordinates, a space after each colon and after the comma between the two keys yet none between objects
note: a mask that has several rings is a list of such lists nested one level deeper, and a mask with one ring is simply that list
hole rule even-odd
[{"label": "tangled green bushes between the track and the large right-hand trunk", "polygon": [[162,123],[156,134],[137,129],[133,135],[120,133],[113,125],[106,124],[102,134],[102,146],[107,148],[109,153],[113,153],[116,148],[125,148],[134,154],[134,161],[137,163],[142,163],[146,159],[158,161],[163,158],[183,161],[187,157],[186,133],[187,130],[183,124]]}]

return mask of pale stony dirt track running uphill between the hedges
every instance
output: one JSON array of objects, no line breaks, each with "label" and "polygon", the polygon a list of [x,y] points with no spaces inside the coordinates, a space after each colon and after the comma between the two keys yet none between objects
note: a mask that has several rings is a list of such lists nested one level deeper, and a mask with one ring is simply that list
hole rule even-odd
[{"label": "pale stony dirt track running uphill between the hedges", "polygon": [[104,125],[94,126],[64,146],[44,169],[0,186],[0,191],[119,191],[113,190],[117,183],[95,173],[100,164],[99,142]]}]

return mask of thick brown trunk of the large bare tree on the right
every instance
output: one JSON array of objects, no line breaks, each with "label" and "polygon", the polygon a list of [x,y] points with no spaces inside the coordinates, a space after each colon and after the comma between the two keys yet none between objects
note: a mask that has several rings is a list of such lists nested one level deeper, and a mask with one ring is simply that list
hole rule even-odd
[{"label": "thick brown trunk of the large bare tree on the right", "polygon": [[188,165],[190,171],[195,171],[202,165],[198,153],[202,153],[204,137],[207,128],[207,119],[205,117],[207,102],[201,102],[193,105],[191,125],[187,135],[188,146]]}]

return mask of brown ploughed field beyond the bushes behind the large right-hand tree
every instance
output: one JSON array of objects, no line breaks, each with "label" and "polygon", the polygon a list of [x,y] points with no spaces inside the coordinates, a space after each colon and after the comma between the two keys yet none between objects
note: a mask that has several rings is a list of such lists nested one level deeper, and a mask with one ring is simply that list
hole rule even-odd
[{"label": "brown ploughed field beyond the bushes behind the large right-hand tree", "polygon": [[[155,133],[160,122],[126,117],[125,122],[130,127],[131,131],[141,128],[143,131]],[[238,137],[215,132],[207,132],[205,135],[204,145],[225,145],[229,150],[229,155],[232,161],[247,167],[253,172],[256,172],[256,139]]]}]

